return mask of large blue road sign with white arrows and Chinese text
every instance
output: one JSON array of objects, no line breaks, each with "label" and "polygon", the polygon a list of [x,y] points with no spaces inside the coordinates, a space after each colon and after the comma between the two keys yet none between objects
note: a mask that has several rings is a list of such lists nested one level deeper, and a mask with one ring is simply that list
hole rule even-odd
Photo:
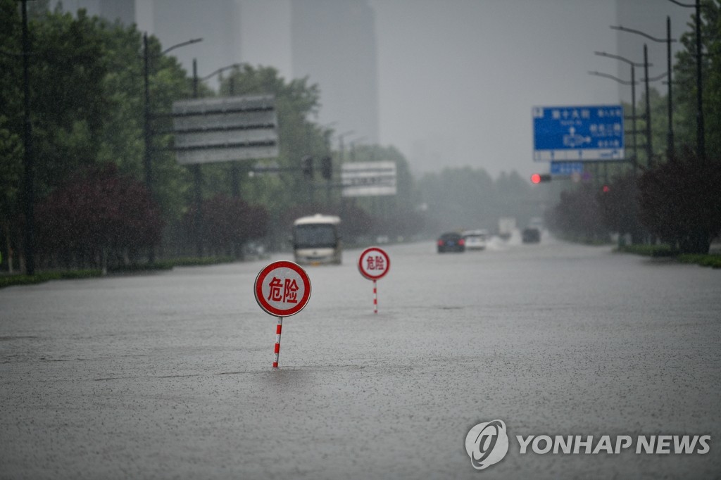
[{"label": "large blue road sign with white arrows and Chinese text", "polygon": [[621,105],[534,107],[534,161],[624,158]]}]

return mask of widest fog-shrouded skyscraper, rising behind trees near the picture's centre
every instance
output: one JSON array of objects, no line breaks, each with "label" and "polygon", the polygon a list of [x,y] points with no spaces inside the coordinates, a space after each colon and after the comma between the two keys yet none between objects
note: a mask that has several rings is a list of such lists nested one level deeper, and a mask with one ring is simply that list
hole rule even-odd
[{"label": "widest fog-shrouded skyscraper, rising behind trees near the picture's centre", "polygon": [[377,143],[376,27],[368,0],[293,0],[291,8],[293,76],[319,85],[319,123]]}]

